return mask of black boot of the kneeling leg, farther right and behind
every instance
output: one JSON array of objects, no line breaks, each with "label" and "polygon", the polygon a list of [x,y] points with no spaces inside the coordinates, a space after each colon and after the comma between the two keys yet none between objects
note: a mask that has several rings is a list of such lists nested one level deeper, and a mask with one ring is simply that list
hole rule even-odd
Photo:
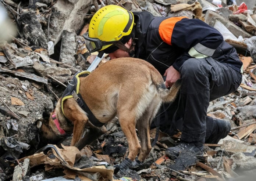
[{"label": "black boot of the kneeling leg, farther right and behind", "polygon": [[231,124],[229,121],[206,117],[206,138],[205,143],[217,144],[220,139],[230,133]]}]

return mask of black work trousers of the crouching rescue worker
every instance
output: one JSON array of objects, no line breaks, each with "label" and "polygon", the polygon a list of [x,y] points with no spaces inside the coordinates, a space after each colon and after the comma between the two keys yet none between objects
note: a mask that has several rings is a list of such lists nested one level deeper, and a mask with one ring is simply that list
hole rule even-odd
[{"label": "black work trousers of the crouching rescue worker", "polygon": [[242,74],[211,57],[188,59],[179,72],[179,96],[173,104],[161,106],[159,113],[167,109],[167,114],[160,115],[160,123],[156,123],[155,118],[151,128],[160,126],[160,130],[170,136],[182,131],[182,141],[207,142],[206,135],[209,137],[217,126],[206,116],[209,102],[234,92],[242,81]]}]

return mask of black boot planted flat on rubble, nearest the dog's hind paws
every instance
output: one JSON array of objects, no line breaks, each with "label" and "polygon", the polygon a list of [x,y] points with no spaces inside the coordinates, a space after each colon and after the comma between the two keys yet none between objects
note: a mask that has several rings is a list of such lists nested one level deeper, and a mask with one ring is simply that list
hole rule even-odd
[{"label": "black boot planted flat on rubble, nearest the dog's hind paws", "polygon": [[195,142],[185,142],[181,141],[177,146],[167,148],[166,155],[172,159],[175,159],[179,156],[181,151],[192,151],[195,152],[196,155],[203,155],[203,142],[195,141]]}]

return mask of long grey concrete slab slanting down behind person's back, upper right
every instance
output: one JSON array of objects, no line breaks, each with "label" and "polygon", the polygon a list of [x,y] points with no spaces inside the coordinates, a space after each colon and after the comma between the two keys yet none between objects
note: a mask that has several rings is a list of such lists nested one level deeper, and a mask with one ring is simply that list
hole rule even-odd
[{"label": "long grey concrete slab slanting down behind person's back, upper right", "polygon": [[209,24],[210,26],[214,26],[216,19],[218,21],[220,21],[221,23],[223,23],[223,25],[225,25],[230,30],[230,32],[233,33],[233,35],[235,35],[236,37],[239,37],[239,36],[242,36],[243,38],[252,37],[252,35],[250,35],[246,31],[242,30],[240,27],[238,27],[234,23],[228,21],[227,19],[225,19],[218,13],[211,11],[211,10],[206,11],[205,22],[207,24]]}]

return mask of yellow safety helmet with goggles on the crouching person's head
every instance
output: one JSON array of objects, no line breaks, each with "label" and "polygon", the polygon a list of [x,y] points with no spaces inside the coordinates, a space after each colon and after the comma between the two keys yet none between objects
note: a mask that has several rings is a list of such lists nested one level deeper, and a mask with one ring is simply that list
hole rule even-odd
[{"label": "yellow safety helmet with goggles on the crouching person's head", "polygon": [[90,52],[105,50],[113,44],[120,47],[120,41],[131,34],[133,26],[132,12],[117,5],[104,6],[93,15],[89,30],[83,35],[86,47]]}]

